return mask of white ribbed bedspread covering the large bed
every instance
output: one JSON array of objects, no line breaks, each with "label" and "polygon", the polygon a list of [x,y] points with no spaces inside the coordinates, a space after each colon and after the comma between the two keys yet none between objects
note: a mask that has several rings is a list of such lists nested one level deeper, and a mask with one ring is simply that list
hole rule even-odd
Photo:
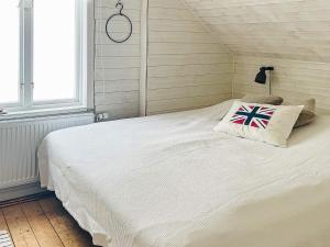
[{"label": "white ribbed bedspread covering the large bed", "polygon": [[58,131],[42,186],[107,247],[329,247],[330,117],[288,148],[212,131],[230,102]]}]

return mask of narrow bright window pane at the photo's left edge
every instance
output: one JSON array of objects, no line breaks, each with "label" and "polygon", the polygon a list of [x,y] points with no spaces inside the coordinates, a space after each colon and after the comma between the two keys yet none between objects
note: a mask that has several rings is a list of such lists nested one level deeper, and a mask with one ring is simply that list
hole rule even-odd
[{"label": "narrow bright window pane at the photo's left edge", "polygon": [[19,13],[18,1],[0,0],[0,104],[19,101]]}]

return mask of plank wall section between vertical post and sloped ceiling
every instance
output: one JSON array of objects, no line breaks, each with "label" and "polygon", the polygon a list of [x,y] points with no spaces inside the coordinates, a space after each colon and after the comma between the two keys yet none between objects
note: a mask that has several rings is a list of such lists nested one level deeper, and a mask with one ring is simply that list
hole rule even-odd
[{"label": "plank wall section between vertical post and sloped ceiling", "polygon": [[231,98],[232,59],[178,0],[148,1],[147,113]]}]

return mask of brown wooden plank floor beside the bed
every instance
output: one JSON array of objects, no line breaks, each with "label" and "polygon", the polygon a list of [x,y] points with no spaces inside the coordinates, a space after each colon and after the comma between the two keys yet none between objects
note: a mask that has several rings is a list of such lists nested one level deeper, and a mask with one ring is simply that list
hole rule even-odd
[{"label": "brown wooden plank floor beside the bed", "polygon": [[91,247],[91,237],[54,197],[0,209],[15,247]]}]

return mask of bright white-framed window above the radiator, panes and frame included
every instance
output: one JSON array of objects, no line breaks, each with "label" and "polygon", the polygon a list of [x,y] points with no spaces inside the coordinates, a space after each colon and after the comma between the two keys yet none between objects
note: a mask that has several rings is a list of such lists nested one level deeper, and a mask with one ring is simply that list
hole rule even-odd
[{"label": "bright white-framed window above the radiator, panes and frame included", "polygon": [[0,108],[82,106],[81,0],[1,0]]}]

